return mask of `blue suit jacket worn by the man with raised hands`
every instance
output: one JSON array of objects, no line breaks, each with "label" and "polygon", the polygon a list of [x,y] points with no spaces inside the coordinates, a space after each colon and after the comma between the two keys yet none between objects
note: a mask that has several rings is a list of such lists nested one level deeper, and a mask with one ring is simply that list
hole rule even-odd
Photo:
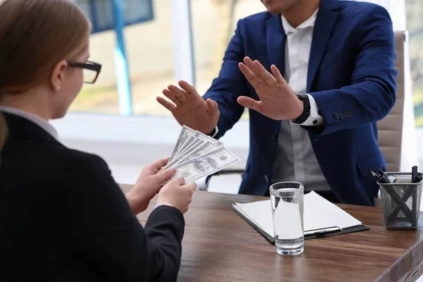
[{"label": "blue suit jacket worn by the man with raised hands", "polygon": [[[250,56],[268,71],[275,64],[283,73],[285,39],[280,15],[264,12],[238,22],[219,77],[204,94],[204,99],[219,104],[217,138],[243,114],[238,97],[259,99],[238,63]],[[314,97],[326,123],[323,132],[304,127],[321,171],[341,202],[372,205],[378,186],[370,171],[386,167],[376,121],[396,101],[391,18],[375,4],[321,0],[312,48],[304,56],[309,56],[307,94]],[[250,154],[240,194],[266,194],[280,126],[280,121],[250,110]]]}]

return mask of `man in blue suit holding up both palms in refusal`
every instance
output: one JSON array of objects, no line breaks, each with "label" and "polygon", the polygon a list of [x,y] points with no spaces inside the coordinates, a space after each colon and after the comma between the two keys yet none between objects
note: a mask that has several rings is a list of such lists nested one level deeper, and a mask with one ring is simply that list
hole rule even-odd
[{"label": "man in blue suit holding up both palms in refusal", "polygon": [[391,18],[375,4],[262,0],[238,22],[204,99],[187,82],[157,101],[180,124],[216,138],[250,109],[250,154],[239,192],[268,195],[296,180],[332,202],[373,205],[370,171],[385,169],[376,121],[396,101]]}]

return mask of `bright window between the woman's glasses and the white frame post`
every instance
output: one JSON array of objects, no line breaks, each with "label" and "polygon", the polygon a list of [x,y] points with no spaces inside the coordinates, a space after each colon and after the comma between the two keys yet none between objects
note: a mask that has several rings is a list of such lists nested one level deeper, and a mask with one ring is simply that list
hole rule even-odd
[{"label": "bright window between the woman's glasses and the white frame post", "polygon": [[[122,0],[122,2],[125,0]],[[163,115],[155,97],[175,82],[171,0],[153,1],[154,19],[125,27],[130,92],[134,114]],[[120,114],[114,50],[114,30],[95,33],[90,41],[91,60],[102,63],[94,85],[84,85],[71,111]]]}]

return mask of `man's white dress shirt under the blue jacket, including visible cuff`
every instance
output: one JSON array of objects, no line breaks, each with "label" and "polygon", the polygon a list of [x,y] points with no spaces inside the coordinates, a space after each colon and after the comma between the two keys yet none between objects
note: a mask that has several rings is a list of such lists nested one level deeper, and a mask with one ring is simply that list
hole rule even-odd
[{"label": "man's white dress shirt under the blue jacket, including visible cuff", "polygon": [[[297,28],[282,17],[286,34],[285,79],[295,93],[307,89],[307,71],[317,11]],[[310,116],[301,125],[321,126],[324,123],[319,108],[311,95]],[[313,123],[317,121],[317,123]],[[309,190],[330,190],[314,154],[307,130],[291,121],[281,121],[271,183],[295,180]]]}]

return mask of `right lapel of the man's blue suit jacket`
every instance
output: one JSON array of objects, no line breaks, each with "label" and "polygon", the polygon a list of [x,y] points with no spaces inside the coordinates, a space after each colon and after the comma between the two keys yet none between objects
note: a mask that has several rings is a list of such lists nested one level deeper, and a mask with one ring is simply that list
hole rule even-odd
[{"label": "right lapel of the man's blue suit jacket", "polygon": [[312,48],[307,73],[307,93],[310,92],[317,69],[324,56],[326,45],[331,38],[338,17],[338,0],[321,0],[316,22],[314,23]]}]

